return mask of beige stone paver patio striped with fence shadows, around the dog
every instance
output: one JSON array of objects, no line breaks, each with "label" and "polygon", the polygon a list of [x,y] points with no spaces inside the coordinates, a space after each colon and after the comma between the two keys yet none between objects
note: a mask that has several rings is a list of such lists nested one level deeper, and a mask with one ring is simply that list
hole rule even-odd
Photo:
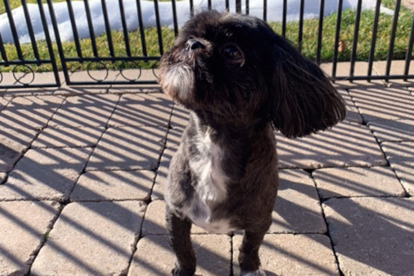
[{"label": "beige stone paver patio striped with fence shadows, around the dog", "polygon": [[[413,83],[337,87],[345,121],[275,133],[281,184],[262,266],[413,275]],[[0,275],[169,275],[163,191],[187,120],[157,87],[0,91]],[[197,275],[238,275],[239,233],[192,237]]]}]

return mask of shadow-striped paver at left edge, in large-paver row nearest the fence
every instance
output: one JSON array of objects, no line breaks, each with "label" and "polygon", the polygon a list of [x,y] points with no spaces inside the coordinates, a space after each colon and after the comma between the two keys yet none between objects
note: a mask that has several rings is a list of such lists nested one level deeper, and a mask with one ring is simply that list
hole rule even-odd
[{"label": "shadow-striped paver at left edge, in large-paver row nearest the fence", "polygon": [[0,113],[0,124],[6,128],[43,128],[61,106],[62,97],[14,97]]}]

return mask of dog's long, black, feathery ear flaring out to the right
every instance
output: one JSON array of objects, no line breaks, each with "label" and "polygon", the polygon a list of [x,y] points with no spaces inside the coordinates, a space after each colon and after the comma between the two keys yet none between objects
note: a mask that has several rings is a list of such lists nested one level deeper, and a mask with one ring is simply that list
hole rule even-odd
[{"label": "dog's long, black, feathery ear flaring out to the right", "polygon": [[324,130],[344,119],[344,100],[316,63],[278,35],[273,42],[270,119],[288,138]]}]

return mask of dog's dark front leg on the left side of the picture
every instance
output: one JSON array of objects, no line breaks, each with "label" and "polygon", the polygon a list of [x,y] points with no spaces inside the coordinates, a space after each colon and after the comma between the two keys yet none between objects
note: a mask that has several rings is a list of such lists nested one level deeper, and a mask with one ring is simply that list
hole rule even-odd
[{"label": "dog's dark front leg on the left side of the picture", "polygon": [[191,221],[177,217],[167,207],[166,222],[167,230],[170,234],[170,245],[177,257],[175,268],[172,269],[171,273],[174,276],[193,276],[196,259],[190,239]]}]

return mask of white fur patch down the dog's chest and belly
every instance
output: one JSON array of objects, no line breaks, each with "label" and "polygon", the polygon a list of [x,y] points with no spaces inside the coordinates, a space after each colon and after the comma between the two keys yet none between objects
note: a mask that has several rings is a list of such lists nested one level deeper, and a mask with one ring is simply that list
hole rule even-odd
[{"label": "white fur patch down the dog's chest and belly", "polygon": [[[223,152],[215,148],[215,155],[211,155],[212,144],[207,132],[204,137],[197,137],[195,144],[199,156],[190,161],[190,168],[198,177],[195,195],[184,214],[197,226],[213,233],[228,233],[234,230],[227,219],[212,219],[214,206],[227,197],[228,176],[221,163]],[[217,146],[216,146],[217,147]]]}]

